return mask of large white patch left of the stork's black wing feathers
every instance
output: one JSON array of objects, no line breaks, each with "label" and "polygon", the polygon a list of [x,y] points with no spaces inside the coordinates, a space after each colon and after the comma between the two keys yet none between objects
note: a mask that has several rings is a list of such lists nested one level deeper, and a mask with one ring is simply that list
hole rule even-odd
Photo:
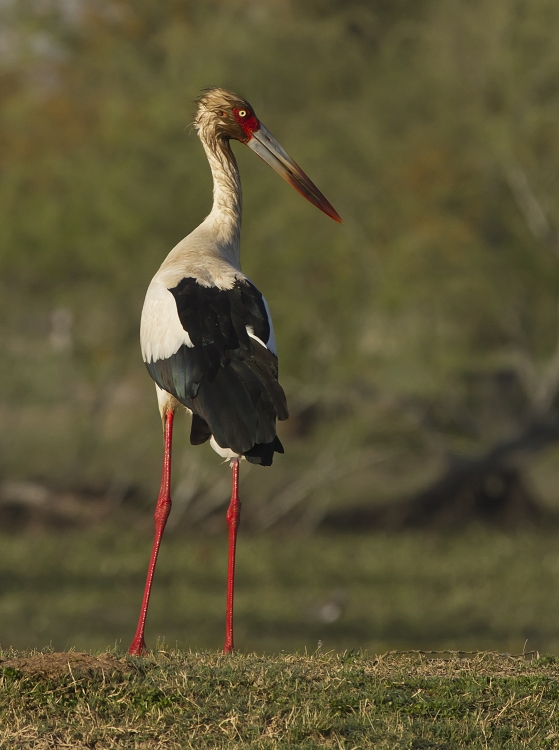
[{"label": "large white patch left of the stork's black wing feathers", "polygon": [[194,346],[182,327],[175,298],[160,281],[152,281],[146,293],[140,344],[144,362],[168,359],[185,344]]}]

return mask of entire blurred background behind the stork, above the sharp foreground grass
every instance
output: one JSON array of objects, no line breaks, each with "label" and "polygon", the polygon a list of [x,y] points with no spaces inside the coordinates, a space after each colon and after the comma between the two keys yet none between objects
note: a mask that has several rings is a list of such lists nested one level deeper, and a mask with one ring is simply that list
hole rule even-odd
[{"label": "entire blurred background behind the stork, above the sharp foreground grass", "polygon": [[[243,465],[239,645],[559,652],[558,32],[555,0],[2,0],[2,647],[132,637],[139,317],[210,210],[219,85],[344,219],[235,147],[291,414]],[[218,648],[229,471],[177,422],[148,635]]]}]

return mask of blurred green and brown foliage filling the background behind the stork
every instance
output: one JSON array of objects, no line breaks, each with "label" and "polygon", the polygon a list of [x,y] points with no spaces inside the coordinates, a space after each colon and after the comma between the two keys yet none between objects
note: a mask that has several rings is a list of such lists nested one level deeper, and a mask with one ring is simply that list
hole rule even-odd
[{"label": "blurred green and brown foliage filling the background behind the stork", "polygon": [[[212,84],[249,98],[345,220],[237,148],[244,269],[269,299],[293,415],[264,499],[324,446],[342,467],[382,448],[417,486],[418,467],[541,408],[559,296],[554,0],[79,7],[1,11],[16,40],[0,57],[5,473],[153,489],[138,318],[210,206],[189,122]],[[346,495],[365,483],[382,486],[372,471]]]}]

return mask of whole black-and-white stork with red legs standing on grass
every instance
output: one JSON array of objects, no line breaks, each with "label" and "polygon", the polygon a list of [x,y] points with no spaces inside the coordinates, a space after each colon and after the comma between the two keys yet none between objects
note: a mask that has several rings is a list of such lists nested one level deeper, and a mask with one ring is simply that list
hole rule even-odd
[{"label": "whole black-and-white stork with red legs standing on grass", "polygon": [[284,449],[276,421],[288,417],[278,382],[270,309],[241,271],[242,193],[231,141],[248,146],[307,200],[337,222],[339,214],[257,118],[249,102],[223,88],[197,99],[194,127],[213,177],[213,205],[176,245],[149,284],[140,323],[144,363],[155,381],[163,425],[163,468],[155,535],[136,633],[129,653],[146,653],[153,576],[171,510],[171,446],[177,409],[191,414],[190,443],[211,447],[231,466],[226,513],[229,551],[224,653],[234,649],[235,551],[240,522],[239,463],[270,466]]}]

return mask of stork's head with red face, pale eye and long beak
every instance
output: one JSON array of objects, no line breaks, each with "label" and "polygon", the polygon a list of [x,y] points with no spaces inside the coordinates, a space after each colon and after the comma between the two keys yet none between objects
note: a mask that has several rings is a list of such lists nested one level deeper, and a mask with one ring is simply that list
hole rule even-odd
[{"label": "stork's head with red face, pale eye and long beak", "polygon": [[197,103],[194,126],[202,141],[210,147],[231,138],[246,144],[297,192],[341,223],[338,212],[260,122],[246,99],[226,89],[211,88]]}]

